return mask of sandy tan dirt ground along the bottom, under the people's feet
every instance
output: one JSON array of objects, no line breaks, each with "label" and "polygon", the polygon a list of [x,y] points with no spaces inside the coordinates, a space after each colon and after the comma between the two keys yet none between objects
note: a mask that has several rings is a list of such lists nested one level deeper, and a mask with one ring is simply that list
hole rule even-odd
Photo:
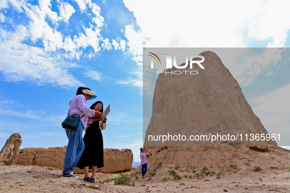
[{"label": "sandy tan dirt ground along the bottom, under the people's feet", "polygon": [[[132,174],[131,174],[132,173]],[[186,172],[185,172],[186,173]],[[127,172],[134,181],[135,186],[114,185],[114,182],[105,184],[92,184],[82,181],[83,174],[78,174],[79,179],[60,178],[61,170],[51,167],[38,166],[0,166],[0,192],[63,192],[63,193],[212,193],[212,192],[290,192],[290,171],[288,169],[264,169],[252,171],[246,175],[222,174],[220,179],[216,175],[205,176],[200,179],[188,178],[185,175],[181,179],[167,181],[154,181],[154,176],[148,173],[148,177],[142,179],[136,171]],[[96,181],[120,176],[120,173],[97,173]],[[136,179],[136,177],[138,179]],[[149,178],[151,176],[151,179]],[[252,180],[252,183],[249,181]],[[131,183],[132,183],[131,181]]]}]

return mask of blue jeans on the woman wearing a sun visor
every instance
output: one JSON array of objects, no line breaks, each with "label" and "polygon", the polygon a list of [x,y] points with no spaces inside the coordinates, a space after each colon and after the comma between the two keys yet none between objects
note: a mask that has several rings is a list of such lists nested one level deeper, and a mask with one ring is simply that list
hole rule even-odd
[{"label": "blue jeans on the woman wearing a sun visor", "polygon": [[63,171],[64,173],[69,173],[74,170],[79,162],[79,158],[84,149],[84,143],[82,139],[83,125],[79,121],[76,130],[65,129],[66,135],[69,139],[67,149],[65,152],[65,157],[63,161]]}]

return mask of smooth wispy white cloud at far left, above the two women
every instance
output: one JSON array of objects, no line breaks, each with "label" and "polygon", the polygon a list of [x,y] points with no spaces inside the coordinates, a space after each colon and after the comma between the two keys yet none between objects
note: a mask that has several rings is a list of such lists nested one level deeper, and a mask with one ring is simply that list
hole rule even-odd
[{"label": "smooth wispy white cloud at far left, above the two women", "polygon": [[24,26],[19,26],[14,33],[1,33],[4,40],[1,39],[0,44],[0,72],[7,81],[59,86],[80,84],[67,72],[67,68],[75,67],[74,64],[64,65],[43,49],[22,44],[27,34]]}]

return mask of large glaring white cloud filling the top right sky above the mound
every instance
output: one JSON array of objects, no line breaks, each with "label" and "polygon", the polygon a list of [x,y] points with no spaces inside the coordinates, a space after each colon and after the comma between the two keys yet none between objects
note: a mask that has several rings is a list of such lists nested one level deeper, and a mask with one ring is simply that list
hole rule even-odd
[{"label": "large glaring white cloud filling the top right sky above the mound", "polygon": [[[125,30],[129,52],[137,65],[142,64],[142,47],[237,48],[268,39],[273,39],[268,47],[284,47],[290,30],[290,23],[279,22],[290,17],[290,2],[286,0],[123,1],[139,25],[137,29],[127,25]],[[250,68],[257,75],[264,64]],[[240,65],[237,73],[244,72],[243,68]]]}]

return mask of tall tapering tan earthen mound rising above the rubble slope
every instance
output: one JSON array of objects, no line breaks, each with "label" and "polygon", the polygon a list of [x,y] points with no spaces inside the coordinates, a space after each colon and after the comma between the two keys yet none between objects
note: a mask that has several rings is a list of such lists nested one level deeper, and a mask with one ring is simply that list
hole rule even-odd
[{"label": "tall tapering tan earthen mound rising above the rubble slope", "polygon": [[[253,113],[237,80],[212,51],[205,57],[205,69],[198,74],[159,74],[153,98],[151,121],[145,135],[145,145],[277,145],[275,141],[246,140],[248,134],[268,134]],[[182,65],[184,66],[184,65]],[[166,71],[179,70],[173,67]],[[184,71],[190,71],[186,67]],[[148,141],[148,136],[185,135],[186,140],[161,143]],[[225,141],[213,141],[212,136],[233,135]],[[210,140],[190,141],[190,135],[207,135]],[[241,138],[242,137],[242,138]],[[152,138],[151,138],[152,139]],[[157,138],[156,138],[157,139]]]}]

